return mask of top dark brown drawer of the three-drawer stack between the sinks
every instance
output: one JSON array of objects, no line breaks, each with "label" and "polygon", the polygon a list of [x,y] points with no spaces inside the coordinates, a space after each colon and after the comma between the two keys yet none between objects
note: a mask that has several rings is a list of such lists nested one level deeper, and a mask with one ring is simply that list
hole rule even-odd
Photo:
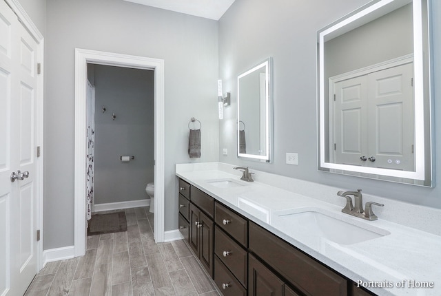
[{"label": "top dark brown drawer of the three-drawer stack between the sinks", "polygon": [[247,220],[218,202],[216,202],[214,211],[214,221],[216,224],[246,248],[248,244]]}]

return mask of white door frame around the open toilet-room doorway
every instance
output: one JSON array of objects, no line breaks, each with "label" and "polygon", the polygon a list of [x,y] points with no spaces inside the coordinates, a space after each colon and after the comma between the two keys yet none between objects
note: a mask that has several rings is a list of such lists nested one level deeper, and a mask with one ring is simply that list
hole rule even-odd
[{"label": "white door frame around the open toilet-room doorway", "polygon": [[86,80],[88,63],[154,70],[154,239],[164,241],[164,60],[75,49],[74,256],[86,250]]}]

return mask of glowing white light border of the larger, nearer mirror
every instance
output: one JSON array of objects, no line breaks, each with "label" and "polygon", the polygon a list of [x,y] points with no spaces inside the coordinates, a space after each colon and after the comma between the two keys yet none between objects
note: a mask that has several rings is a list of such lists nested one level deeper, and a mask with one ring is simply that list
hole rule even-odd
[{"label": "glowing white light border of the larger, nearer mirror", "polygon": [[[357,21],[365,15],[390,5],[396,0],[380,0],[374,1],[374,3],[368,3],[367,6],[363,6],[359,10],[354,11],[352,14],[348,14],[341,21],[332,23],[327,28],[318,32],[318,118],[319,118],[319,162],[318,169],[337,169],[342,171],[353,171],[358,173],[369,173],[373,175],[390,176],[396,178],[408,178],[414,180],[426,180],[425,173],[425,157],[424,151],[426,143],[424,142],[424,57],[423,57],[423,36],[422,36],[422,0],[413,0],[413,52],[414,52],[414,92],[416,94],[414,98],[415,105],[415,141],[418,143],[416,147],[416,170],[415,171],[397,171],[394,169],[381,169],[373,167],[358,167],[354,165],[341,165],[331,162],[325,162],[325,67],[324,67],[324,45],[326,36],[336,32],[336,30],[342,28],[345,25],[353,21]],[[429,37],[430,38],[430,37]],[[429,40],[430,47],[430,40]],[[431,48],[429,48],[431,50]],[[431,76],[431,75],[429,75]],[[430,79],[430,78],[429,78]],[[429,94],[431,95],[431,94]],[[430,157],[430,156],[429,156]],[[432,160],[431,160],[432,162]]]}]

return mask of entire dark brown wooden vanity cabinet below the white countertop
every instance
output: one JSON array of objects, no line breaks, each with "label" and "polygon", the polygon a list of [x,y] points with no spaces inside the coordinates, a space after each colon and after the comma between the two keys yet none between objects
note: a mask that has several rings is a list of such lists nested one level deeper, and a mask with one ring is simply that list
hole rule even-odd
[{"label": "entire dark brown wooden vanity cabinet below the white countertop", "polygon": [[186,184],[179,181],[180,230],[224,296],[373,295]]}]

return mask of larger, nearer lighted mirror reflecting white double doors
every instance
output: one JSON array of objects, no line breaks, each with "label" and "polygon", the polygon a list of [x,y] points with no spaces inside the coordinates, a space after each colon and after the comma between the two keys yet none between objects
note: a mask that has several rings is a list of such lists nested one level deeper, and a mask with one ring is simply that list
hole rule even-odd
[{"label": "larger, nearer lighted mirror reflecting white double doors", "polygon": [[429,4],[372,1],[318,32],[320,170],[434,185]]}]

